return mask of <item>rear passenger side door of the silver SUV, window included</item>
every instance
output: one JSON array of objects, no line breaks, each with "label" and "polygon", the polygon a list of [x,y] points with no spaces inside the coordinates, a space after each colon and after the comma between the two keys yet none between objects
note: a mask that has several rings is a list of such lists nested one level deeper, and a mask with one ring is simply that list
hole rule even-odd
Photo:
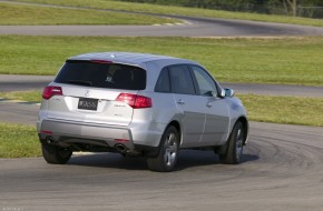
[{"label": "rear passenger side door of the silver SUV, window included", "polygon": [[202,97],[196,94],[188,66],[170,66],[168,70],[174,100],[182,113],[182,147],[196,147],[199,144],[204,130],[205,113],[200,108],[205,103],[203,103]]}]

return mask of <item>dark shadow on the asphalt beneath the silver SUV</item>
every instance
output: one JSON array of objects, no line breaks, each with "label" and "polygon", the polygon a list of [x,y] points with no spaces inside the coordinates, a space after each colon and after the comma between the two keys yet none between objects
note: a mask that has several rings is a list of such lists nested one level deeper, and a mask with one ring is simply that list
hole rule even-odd
[{"label": "dark shadow on the asphalt beneath the silver SUV", "polygon": [[[242,163],[255,160],[258,160],[258,155],[244,154]],[[67,164],[125,170],[148,170],[145,158],[127,158],[118,153],[74,155]],[[218,157],[212,151],[182,150],[179,151],[178,161],[174,171],[222,163],[219,162]]]}]

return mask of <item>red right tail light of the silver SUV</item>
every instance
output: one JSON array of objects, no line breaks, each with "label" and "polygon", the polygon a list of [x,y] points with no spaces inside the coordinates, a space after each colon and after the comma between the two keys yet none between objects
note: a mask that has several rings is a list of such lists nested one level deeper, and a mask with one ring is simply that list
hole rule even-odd
[{"label": "red right tail light of the silver SUV", "polygon": [[116,101],[126,102],[134,109],[144,109],[153,107],[153,101],[150,98],[133,93],[120,93],[117,97]]}]

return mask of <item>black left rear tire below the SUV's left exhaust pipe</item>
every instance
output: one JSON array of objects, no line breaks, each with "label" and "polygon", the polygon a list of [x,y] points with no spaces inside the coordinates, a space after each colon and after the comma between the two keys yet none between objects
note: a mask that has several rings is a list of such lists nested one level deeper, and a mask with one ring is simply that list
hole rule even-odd
[{"label": "black left rear tire below the SUV's left exhaust pipe", "polygon": [[41,144],[43,159],[50,164],[65,164],[70,159],[72,151],[69,148],[58,145]]}]

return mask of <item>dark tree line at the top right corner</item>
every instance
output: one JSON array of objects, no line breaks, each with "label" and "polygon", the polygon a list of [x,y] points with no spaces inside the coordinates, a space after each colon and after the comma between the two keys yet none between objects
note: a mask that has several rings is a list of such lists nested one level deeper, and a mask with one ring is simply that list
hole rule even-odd
[{"label": "dark tree line at the top right corner", "polygon": [[267,14],[323,18],[322,0],[120,0]]}]

